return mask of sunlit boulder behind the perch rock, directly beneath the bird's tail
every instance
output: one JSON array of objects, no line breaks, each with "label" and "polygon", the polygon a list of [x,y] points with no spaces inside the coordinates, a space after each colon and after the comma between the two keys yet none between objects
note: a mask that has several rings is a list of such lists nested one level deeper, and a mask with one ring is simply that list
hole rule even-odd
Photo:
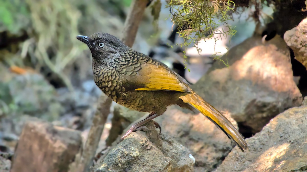
[{"label": "sunlit boulder behind the perch rock, directly beneath the bird's tail", "polygon": [[[237,127],[230,114],[223,113]],[[212,171],[235,146],[219,128],[203,114],[169,107],[165,114],[154,119],[165,132],[187,147],[195,158],[195,171]]]}]

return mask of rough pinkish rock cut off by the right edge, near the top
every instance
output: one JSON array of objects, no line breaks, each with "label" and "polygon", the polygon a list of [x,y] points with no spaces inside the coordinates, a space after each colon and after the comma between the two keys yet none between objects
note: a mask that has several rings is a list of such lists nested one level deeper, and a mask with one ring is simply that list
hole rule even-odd
[{"label": "rough pinkish rock cut off by the right edge, near the top", "polygon": [[295,59],[307,69],[307,18],[302,20],[297,27],[288,30],[284,35],[284,39],[293,50]]}]

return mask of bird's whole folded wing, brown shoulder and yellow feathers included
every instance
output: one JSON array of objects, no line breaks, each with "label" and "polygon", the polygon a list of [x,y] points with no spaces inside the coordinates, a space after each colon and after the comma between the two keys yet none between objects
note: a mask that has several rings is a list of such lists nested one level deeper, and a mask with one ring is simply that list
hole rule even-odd
[{"label": "bird's whole folded wing, brown shoulder and yellow feathers included", "polygon": [[126,68],[127,85],[138,91],[191,92],[188,82],[161,62],[135,64]]}]

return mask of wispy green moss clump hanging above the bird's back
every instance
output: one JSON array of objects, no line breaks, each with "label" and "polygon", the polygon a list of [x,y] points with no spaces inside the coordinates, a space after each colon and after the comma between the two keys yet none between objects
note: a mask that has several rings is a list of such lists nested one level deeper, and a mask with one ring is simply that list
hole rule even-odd
[{"label": "wispy green moss clump hanging above the bird's back", "polygon": [[[180,44],[181,47],[185,46],[185,51],[188,45],[193,43],[198,52],[201,52],[198,47],[198,42],[201,39],[213,37],[216,41],[216,34],[233,36],[236,32],[227,24],[227,21],[231,20],[230,14],[235,7],[232,1],[170,0],[167,7],[170,9],[173,23],[179,27],[178,33],[180,37],[185,40],[184,43]],[[220,24],[216,23],[215,19],[218,19],[219,23],[225,24],[229,30],[218,30],[217,27]],[[185,52],[184,58],[187,58]],[[218,57],[216,56],[215,58]],[[224,64],[227,65],[225,62]]]}]

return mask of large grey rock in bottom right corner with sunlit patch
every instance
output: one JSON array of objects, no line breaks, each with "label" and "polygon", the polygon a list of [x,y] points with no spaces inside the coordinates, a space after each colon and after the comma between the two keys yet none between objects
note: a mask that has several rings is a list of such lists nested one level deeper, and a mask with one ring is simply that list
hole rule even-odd
[{"label": "large grey rock in bottom right corner with sunlit patch", "polygon": [[249,151],[233,149],[216,171],[306,171],[307,107],[277,115],[247,139]]}]

